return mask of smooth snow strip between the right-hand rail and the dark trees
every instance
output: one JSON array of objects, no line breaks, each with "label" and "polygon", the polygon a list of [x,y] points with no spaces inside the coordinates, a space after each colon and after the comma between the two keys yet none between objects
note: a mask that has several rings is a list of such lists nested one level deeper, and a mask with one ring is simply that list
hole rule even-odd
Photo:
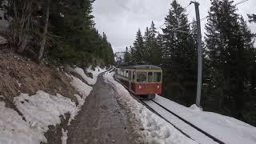
[{"label": "smooth snow strip between the right-hand rail and the dark trees", "polygon": [[202,111],[195,105],[188,108],[161,96],[157,96],[154,101],[222,142],[230,144],[256,143],[256,128],[245,122],[221,114]]}]

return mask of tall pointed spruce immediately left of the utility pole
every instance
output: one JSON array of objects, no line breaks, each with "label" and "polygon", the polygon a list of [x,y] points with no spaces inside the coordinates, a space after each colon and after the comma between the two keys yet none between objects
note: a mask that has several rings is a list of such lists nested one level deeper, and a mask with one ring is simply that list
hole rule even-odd
[{"label": "tall pointed spruce immediately left of the utility pole", "polygon": [[194,103],[196,94],[197,53],[185,12],[176,0],[171,3],[166,28],[162,29],[162,45],[164,94],[188,106]]}]

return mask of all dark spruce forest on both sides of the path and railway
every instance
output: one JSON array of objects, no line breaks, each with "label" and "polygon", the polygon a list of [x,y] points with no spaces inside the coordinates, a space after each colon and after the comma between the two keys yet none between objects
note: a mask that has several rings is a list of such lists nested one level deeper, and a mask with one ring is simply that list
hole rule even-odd
[{"label": "all dark spruce forest on both sides of the path and railway", "polygon": [[[8,47],[37,62],[55,66],[114,65],[105,33],[95,28],[94,0],[1,0],[1,34]],[[195,102],[197,26],[177,1],[170,4],[161,30],[154,22],[138,30],[125,62],[146,62],[163,69],[163,93],[184,106]],[[256,24],[256,15],[248,14]],[[233,1],[212,1],[203,42],[202,108],[256,126],[256,50],[253,34]]]}]

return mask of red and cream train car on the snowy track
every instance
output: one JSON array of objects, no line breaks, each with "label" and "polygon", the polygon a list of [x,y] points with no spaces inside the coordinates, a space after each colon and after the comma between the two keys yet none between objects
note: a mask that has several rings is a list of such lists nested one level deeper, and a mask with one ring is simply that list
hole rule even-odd
[{"label": "red and cream train car on the snowy track", "polygon": [[153,99],[162,94],[162,68],[152,65],[120,66],[114,78],[141,99]]}]

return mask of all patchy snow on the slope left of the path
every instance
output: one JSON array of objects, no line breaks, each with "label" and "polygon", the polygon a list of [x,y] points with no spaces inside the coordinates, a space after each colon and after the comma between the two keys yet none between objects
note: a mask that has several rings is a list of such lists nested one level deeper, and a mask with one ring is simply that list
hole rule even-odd
[{"label": "all patchy snow on the slope left of the path", "polygon": [[[77,68],[77,70],[82,69]],[[98,67],[96,70],[88,70],[94,75],[94,78],[86,79],[90,84],[94,84],[97,81],[98,74],[104,71]],[[79,71],[78,74],[82,78],[85,77],[83,70]],[[48,126],[60,124],[60,116],[65,118],[65,114],[70,114],[69,122],[74,119],[93,88],[72,75],[67,74],[67,76],[71,79],[71,86],[74,86],[78,91],[78,94],[74,94],[74,97],[78,100],[78,106],[70,98],[63,97],[61,94],[51,95],[42,90],[38,90],[32,96],[20,94],[14,98],[14,104],[26,118],[26,121],[24,121],[22,116],[15,110],[6,108],[5,103],[0,102],[1,144],[38,144],[47,142],[44,133],[48,130]],[[62,130],[63,144],[66,144],[67,133],[68,131]]]}]

